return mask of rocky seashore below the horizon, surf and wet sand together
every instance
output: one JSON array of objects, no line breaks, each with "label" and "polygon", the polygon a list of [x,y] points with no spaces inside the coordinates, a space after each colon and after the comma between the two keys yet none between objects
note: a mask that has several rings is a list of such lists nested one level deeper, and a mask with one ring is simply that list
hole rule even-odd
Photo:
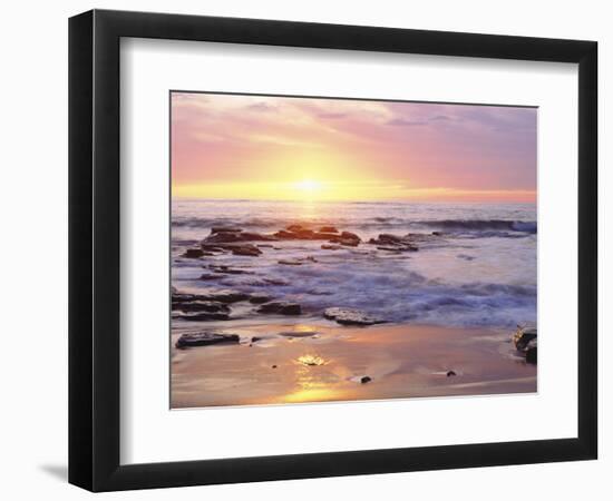
[{"label": "rocky seashore below the horizon, surf and wet sand together", "polygon": [[181,199],[172,224],[174,409],[536,391],[512,343],[534,204]]}]

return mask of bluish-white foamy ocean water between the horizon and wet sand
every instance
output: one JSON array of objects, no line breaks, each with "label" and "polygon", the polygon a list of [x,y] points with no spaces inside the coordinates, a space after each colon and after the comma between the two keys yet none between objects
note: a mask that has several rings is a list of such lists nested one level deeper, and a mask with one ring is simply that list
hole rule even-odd
[{"label": "bluish-white foamy ocean water between the horizon and wet sand", "polygon": [[[334,226],[359,235],[362,244],[325,250],[322,240],[283,240],[255,257],[182,257],[215,226],[272,234],[292,224]],[[421,234],[415,237],[418,252],[392,253],[367,243],[379,234],[409,233]],[[300,303],[313,316],[339,306],[391,323],[500,328],[534,323],[536,246],[535,204],[172,202],[174,286],[264,292]],[[284,259],[304,261],[279,264]],[[201,281],[212,263],[246,273]]]}]

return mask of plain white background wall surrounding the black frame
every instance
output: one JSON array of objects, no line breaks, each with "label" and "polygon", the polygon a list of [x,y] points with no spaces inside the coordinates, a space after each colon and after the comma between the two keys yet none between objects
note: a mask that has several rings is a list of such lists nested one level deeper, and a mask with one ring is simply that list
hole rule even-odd
[{"label": "plain white background wall surrounding the black frame", "polygon": [[[613,177],[606,118],[613,116],[613,18],[605,1],[376,2],[125,0],[4,2],[0,21],[0,204],[2,357],[0,360],[0,493],[4,499],[82,499],[66,483],[67,464],[67,18],[93,7],[393,26],[600,42],[601,256],[611,254]],[[609,242],[607,242],[609,240]],[[607,286],[603,286],[607,279]],[[601,258],[601,310],[613,276]],[[561,312],[563,314],[563,312]],[[612,343],[601,315],[601,459],[249,485],[107,494],[106,499],[382,498],[516,500],[613,497]],[[606,395],[609,393],[609,395]],[[453,416],[450,416],[453,419]],[[529,416],[518,416],[518,423]]]}]

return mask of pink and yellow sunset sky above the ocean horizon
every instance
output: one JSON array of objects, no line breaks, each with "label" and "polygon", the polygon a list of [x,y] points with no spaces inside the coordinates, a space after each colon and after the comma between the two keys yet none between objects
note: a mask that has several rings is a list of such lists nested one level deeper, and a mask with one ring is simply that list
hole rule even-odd
[{"label": "pink and yellow sunset sky above the ocean horizon", "polygon": [[535,202],[535,108],[172,92],[173,197]]}]

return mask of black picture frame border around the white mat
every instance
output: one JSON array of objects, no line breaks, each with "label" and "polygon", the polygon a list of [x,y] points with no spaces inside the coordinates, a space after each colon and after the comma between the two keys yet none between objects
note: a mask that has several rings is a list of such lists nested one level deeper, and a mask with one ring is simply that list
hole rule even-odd
[{"label": "black picture frame border around the white mat", "polygon": [[[119,40],[123,37],[578,63],[576,438],[119,463]],[[69,482],[91,491],[596,459],[597,43],[93,10],[69,20]]]}]

